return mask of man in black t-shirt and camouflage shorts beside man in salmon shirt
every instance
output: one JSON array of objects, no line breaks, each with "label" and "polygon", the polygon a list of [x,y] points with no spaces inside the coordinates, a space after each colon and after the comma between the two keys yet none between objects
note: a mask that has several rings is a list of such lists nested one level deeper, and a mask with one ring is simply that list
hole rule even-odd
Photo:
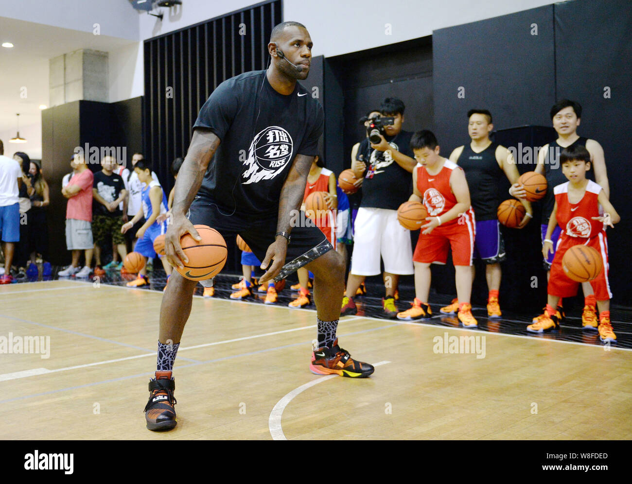
[{"label": "man in black t-shirt and camouflage shorts beside man in salmon shirt", "polygon": [[121,260],[125,260],[127,248],[121,234],[123,210],[119,204],[127,197],[125,183],[121,175],[114,173],[116,160],[104,156],[101,171],[94,174],[92,185],[92,234],[94,236],[94,256],[96,266],[101,265],[101,247],[112,239]]}]

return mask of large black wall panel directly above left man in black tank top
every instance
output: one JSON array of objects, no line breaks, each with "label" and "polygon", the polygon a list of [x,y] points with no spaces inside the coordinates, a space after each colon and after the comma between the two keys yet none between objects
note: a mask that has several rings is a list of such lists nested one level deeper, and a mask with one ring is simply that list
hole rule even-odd
[{"label": "large black wall panel directly above left man in black tank top", "polygon": [[552,5],[435,30],[432,61],[435,134],[444,155],[469,142],[467,112],[474,107],[492,112],[495,129],[550,124]]}]

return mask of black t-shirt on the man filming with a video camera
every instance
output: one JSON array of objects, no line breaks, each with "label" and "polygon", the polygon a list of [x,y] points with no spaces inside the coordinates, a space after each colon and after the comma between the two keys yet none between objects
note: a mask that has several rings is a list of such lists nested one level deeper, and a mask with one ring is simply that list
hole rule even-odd
[{"label": "black t-shirt on the man filming with a video camera", "polygon": [[[415,157],[410,149],[410,131],[399,131],[395,136],[384,136],[386,141],[401,154]],[[371,148],[368,138],[360,142],[358,157],[363,155],[367,171],[362,182],[362,202],[360,207],[397,210],[406,202],[413,191],[413,176],[399,166],[385,152]]]}]

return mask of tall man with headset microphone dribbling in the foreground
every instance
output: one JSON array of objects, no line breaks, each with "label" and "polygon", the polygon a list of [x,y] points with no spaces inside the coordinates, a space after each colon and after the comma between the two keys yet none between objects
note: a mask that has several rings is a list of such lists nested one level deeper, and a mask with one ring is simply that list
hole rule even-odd
[{"label": "tall man with headset microphone dribbling in the foreground", "polygon": [[[221,83],[202,106],[174,187],[166,255],[183,267],[180,237],[200,240],[193,225],[204,224],[226,239],[241,235],[267,269],[260,282],[307,267],[314,274],[319,347],[310,370],[368,377],[373,366],[352,360],[337,344],[344,260],[300,212],[324,124],[322,106],[296,82],[309,73],[312,39],[300,23],[284,22],[272,30],[268,51],[266,71]],[[196,284],[174,272],[162,298],[157,372],[145,407],[150,430],[176,425],[173,360]]]}]

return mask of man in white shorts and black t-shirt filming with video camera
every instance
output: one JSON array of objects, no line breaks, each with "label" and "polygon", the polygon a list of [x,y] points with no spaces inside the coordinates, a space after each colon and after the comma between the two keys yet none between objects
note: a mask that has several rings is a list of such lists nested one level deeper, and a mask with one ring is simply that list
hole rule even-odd
[{"label": "man in white shorts and black t-shirt filming with video camera", "polygon": [[401,129],[404,103],[400,99],[387,97],[380,111],[381,118],[368,120],[368,137],[360,143],[358,161],[352,166],[356,176],[364,177],[364,181],[341,316],[357,312],[353,296],[367,275],[380,274],[380,255],[386,286],[382,306],[387,317],[395,318],[398,313],[394,293],[399,275],[413,274],[410,232],[397,218],[399,205],[411,193],[410,174],[416,166],[410,150],[413,133]]}]

